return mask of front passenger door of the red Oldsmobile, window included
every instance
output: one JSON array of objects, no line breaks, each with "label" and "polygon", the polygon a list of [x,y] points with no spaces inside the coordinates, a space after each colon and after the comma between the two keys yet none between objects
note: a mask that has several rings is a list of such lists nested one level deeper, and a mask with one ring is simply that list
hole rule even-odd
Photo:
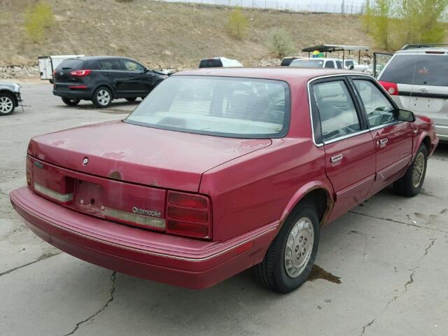
[{"label": "front passenger door of the red Oldsmobile, window included", "polygon": [[412,127],[398,120],[398,109],[375,80],[367,76],[353,77],[353,86],[376,150],[377,174],[370,196],[404,174],[412,157]]}]

